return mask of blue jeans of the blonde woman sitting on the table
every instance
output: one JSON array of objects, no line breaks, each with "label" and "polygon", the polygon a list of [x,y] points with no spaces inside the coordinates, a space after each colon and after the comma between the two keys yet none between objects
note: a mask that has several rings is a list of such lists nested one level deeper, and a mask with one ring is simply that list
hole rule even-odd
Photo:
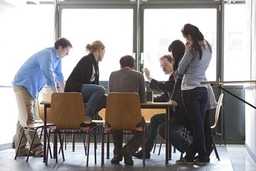
[{"label": "blue jeans of the blonde woman sitting on the table", "polygon": [[99,110],[106,106],[105,89],[99,85],[83,84],[81,93],[83,101],[86,102],[86,116],[92,119]]}]

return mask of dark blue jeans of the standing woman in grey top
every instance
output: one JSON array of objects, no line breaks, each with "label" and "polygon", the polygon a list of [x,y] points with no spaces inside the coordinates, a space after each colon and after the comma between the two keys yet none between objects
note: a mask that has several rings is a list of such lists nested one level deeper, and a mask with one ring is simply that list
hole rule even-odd
[{"label": "dark blue jeans of the standing woman in grey top", "polygon": [[183,90],[181,96],[193,129],[193,149],[186,152],[185,159],[194,159],[195,153],[198,153],[199,160],[206,161],[204,117],[208,99],[207,88]]}]

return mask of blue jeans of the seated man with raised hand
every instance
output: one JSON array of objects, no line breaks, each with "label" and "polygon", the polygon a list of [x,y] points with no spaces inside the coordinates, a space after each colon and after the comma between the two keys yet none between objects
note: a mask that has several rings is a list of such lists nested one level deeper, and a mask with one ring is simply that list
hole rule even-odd
[{"label": "blue jeans of the seated man with raised hand", "polygon": [[[151,151],[153,149],[153,144],[157,138],[157,129],[160,136],[165,139],[165,116],[166,114],[157,114],[150,119],[150,135],[148,136],[146,142],[146,150]],[[169,142],[181,153],[184,153],[189,146],[190,142],[187,141],[180,134],[180,130],[184,126],[177,124],[175,117],[172,117],[169,121]]]}]

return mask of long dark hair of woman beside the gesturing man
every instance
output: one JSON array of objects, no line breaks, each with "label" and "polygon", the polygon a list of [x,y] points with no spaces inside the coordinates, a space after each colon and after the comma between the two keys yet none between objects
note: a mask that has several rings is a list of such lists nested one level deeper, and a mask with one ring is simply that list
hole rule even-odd
[{"label": "long dark hair of woman beside the gesturing man", "polygon": [[170,43],[168,51],[173,54],[173,71],[178,69],[180,59],[184,56],[186,46],[180,40],[174,40]]}]

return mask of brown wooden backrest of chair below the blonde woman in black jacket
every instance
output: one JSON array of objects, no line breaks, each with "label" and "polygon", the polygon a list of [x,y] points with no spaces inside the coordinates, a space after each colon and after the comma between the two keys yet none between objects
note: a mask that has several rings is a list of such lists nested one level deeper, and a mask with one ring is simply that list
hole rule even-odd
[{"label": "brown wooden backrest of chair below the blonde woman in black jacket", "polygon": [[80,129],[80,124],[86,120],[82,94],[53,92],[49,120],[57,129]]}]

